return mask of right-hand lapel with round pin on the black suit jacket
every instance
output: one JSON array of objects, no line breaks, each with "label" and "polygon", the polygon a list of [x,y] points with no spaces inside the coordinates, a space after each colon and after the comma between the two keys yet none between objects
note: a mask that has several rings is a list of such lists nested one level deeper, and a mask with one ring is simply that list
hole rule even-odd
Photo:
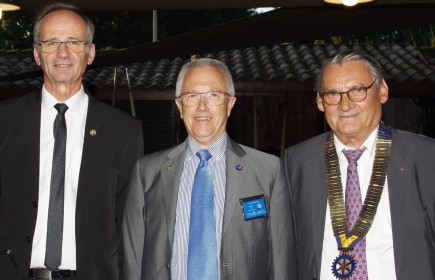
[{"label": "right-hand lapel with round pin on the black suit jacket", "polygon": [[[82,160],[80,165],[79,183],[77,189],[77,209],[79,209],[81,199],[85,193],[87,182],[92,174],[95,156],[98,151],[98,143],[103,135],[103,122],[100,117],[100,105],[86,91],[89,97],[88,112],[86,116],[86,127],[83,141]],[[95,133],[91,134],[91,130]]]}]

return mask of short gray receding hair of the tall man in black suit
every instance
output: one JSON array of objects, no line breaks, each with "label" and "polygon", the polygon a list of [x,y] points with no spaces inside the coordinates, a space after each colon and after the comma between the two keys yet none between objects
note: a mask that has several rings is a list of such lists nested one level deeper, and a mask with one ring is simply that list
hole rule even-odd
[{"label": "short gray receding hair of the tall man in black suit", "polygon": [[88,42],[86,46],[86,52],[89,53],[91,49],[92,40],[94,39],[94,33],[95,33],[95,27],[92,21],[84,15],[80,10],[71,4],[66,3],[53,3],[50,5],[45,6],[36,16],[36,21],[33,27],[33,46],[38,50],[40,50],[38,42],[39,42],[39,35],[41,32],[41,24],[42,21],[51,13],[57,12],[57,11],[70,11],[73,13],[76,13],[79,15],[86,24],[86,41]]}]

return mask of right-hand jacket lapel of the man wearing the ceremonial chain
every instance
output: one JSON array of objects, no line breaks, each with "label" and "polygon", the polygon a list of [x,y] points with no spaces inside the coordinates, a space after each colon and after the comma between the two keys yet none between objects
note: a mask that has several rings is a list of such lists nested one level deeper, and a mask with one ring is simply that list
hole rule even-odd
[{"label": "right-hand jacket lapel of the man wearing the ceremonial chain", "polygon": [[407,160],[408,149],[402,139],[393,130],[393,144],[388,165],[388,192],[390,200],[391,223],[393,228],[394,262],[397,279],[400,278],[403,254],[405,250],[406,225],[409,219],[410,187],[409,175],[412,167]]}]

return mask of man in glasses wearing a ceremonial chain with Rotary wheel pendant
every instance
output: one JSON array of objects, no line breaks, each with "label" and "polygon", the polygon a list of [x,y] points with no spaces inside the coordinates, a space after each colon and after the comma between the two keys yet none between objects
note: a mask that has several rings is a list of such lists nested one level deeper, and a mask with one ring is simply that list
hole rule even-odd
[{"label": "man in glasses wearing a ceremonial chain with Rotary wheel pendant", "polygon": [[289,148],[298,279],[435,279],[435,141],[382,124],[388,86],[362,52],[327,60],[331,132]]}]

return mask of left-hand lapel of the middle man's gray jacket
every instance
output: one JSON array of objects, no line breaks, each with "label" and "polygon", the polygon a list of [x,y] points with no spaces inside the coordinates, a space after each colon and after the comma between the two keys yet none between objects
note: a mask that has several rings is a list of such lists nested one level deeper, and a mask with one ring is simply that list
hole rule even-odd
[{"label": "left-hand lapel of the middle man's gray jacket", "polygon": [[180,185],[181,173],[183,171],[184,159],[186,157],[186,144],[175,147],[160,167],[160,174],[163,182],[163,200],[165,202],[166,223],[168,239],[171,246],[174,239],[175,215],[177,209],[178,188]]}]

